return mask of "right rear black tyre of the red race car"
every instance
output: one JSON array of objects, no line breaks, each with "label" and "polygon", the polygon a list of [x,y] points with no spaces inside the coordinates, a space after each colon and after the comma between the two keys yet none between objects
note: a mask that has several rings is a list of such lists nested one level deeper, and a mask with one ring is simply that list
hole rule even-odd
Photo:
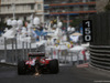
[{"label": "right rear black tyre of the red race car", "polygon": [[58,60],[50,61],[50,72],[56,74],[59,72]]}]

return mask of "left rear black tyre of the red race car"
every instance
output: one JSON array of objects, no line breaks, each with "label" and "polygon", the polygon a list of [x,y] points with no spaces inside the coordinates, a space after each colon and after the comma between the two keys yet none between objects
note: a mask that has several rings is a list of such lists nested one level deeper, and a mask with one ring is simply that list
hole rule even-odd
[{"label": "left rear black tyre of the red race car", "polygon": [[18,74],[19,75],[23,75],[26,72],[26,68],[25,68],[25,62],[24,61],[20,61],[18,63]]}]

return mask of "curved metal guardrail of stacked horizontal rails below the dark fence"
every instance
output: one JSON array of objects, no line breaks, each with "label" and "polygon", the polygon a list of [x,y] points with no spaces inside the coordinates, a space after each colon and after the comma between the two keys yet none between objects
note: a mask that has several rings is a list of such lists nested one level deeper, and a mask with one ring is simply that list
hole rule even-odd
[{"label": "curved metal guardrail of stacked horizontal rails below the dark fence", "polygon": [[110,71],[110,46],[90,45],[90,64]]}]

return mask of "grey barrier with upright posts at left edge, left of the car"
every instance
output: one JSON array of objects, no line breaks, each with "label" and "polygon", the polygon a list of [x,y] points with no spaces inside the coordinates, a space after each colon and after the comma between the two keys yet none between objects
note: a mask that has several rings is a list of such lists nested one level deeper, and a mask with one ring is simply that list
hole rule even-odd
[{"label": "grey barrier with upright posts at left edge, left of the car", "polygon": [[21,60],[28,60],[29,52],[41,50],[44,50],[44,45],[32,48],[32,43],[4,38],[4,44],[0,45],[0,63],[18,64]]}]

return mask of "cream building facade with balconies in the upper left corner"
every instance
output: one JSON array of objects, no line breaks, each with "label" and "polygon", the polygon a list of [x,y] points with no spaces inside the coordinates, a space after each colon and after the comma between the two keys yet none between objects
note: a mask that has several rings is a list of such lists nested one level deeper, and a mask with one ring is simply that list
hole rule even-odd
[{"label": "cream building facade with balconies in the upper left corner", "polygon": [[1,0],[0,20],[20,19],[30,21],[30,15],[34,14],[44,22],[44,0]]}]

